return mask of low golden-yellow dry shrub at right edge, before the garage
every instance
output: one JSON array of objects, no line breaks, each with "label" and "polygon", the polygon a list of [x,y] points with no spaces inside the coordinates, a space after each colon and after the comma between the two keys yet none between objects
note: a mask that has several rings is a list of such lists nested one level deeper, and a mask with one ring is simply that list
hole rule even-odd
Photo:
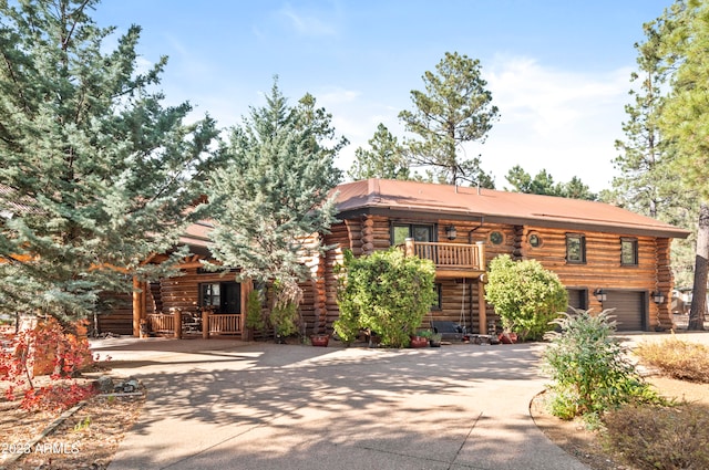
[{"label": "low golden-yellow dry shrub at right edge, before the garage", "polygon": [[633,353],[666,376],[709,383],[709,347],[702,344],[688,343],[672,335],[659,343],[643,342]]}]

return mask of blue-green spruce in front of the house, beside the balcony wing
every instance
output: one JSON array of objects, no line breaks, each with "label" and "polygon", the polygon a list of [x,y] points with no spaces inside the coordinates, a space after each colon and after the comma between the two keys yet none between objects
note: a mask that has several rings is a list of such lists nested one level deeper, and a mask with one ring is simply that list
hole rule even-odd
[{"label": "blue-green spruce in front of the house, beside the balcony wing", "polygon": [[335,138],[331,115],[315,103],[306,95],[290,107],[274,83],[266,106],[253,107],[232,129],[224,149],[229,164],[209,185],[219,207],[210,234],[215,258],[240,268],[239,280],[274,284],[280,305],[299,300],[297,284],[309,275],[302,257],[325,248],[309,237],[336,221],[333,160],[347,139]]}]

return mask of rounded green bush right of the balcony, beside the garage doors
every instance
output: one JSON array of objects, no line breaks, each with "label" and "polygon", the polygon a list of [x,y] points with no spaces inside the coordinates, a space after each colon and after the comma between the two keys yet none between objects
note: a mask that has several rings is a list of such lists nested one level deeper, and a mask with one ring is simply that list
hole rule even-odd
[{"label": "rounded green bush right of the balcony, beside the garage doors", "polygon": [[541,340],[549,322],[566,310],[568,294],[558,276],[536,260],[512,261],[502,254],[490,262],[485,300],[506,331],[522,340]]}]

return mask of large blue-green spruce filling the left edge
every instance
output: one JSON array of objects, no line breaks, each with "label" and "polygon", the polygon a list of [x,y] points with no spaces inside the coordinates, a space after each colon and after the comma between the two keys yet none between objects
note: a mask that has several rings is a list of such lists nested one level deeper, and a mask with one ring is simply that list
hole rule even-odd
[{"label": "large blue-green spruce filling the left edge", "polygon": [[146,261],[175,246],[215,161],[214,122],[185,125],[189,104],[151,92],[166,58],[137,72],[138,27],[106,52],[96,3],[0,1],[4,312],[78,318],[100,291],[130,292],[130,274],[156,275]]}]

